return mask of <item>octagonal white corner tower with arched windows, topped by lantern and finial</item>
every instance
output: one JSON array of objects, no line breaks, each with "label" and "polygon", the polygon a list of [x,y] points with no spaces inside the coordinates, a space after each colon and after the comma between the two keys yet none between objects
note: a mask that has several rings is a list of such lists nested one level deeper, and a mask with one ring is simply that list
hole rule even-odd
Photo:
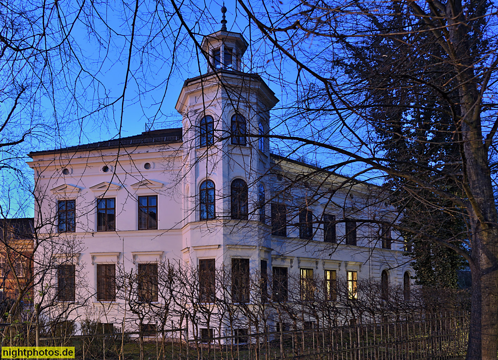
[{"label": "octagonal white corner tower with arched windows, topped by lantern and finial", "polygon": [[[221,254],[228,242],[260,240],[234,227],[259,227],[255,199],[269,167],[269,112],[278,102],[258,74],[244,71],[250,68],[244,62],[249,43],[227,31],[226,10],[223,6],[221,30],[202,40],[206,72],[185,80],[175,107],[183,119],[184,239],[190,249],[218,244]],[[234,215],[237,179],[239,187],[247,184],[247,210],[239,209],[247,214]],[[191,258],[199,255],[189,251]]]}]

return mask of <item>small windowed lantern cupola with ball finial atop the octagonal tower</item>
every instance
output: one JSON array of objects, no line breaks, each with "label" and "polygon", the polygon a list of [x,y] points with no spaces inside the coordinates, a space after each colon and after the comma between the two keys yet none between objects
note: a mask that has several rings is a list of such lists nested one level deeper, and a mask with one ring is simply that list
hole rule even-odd
[{"label": "small windowed lantern cupola with ball finial atop the octagonal tower", "polygon": [[225,3],[221,8],[223,18],[221,30],[204,36],[202,49],[208,54],[208,72],[215,70],[242,71],[242,56],[249,44],[239,32],[227,31]]}]

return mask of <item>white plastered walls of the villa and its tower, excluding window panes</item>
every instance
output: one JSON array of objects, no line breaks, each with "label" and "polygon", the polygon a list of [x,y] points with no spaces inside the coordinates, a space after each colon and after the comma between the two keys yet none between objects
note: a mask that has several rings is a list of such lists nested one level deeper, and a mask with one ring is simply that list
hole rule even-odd
[{"label": "white plastered walls of the villa and its tower, excluding window panes", "polygon": [[[322,214],[369,218],[375,206],[366,206],[370,186],[352,184],[337,192],[331,189],[344,178],[297,161],[270,155],[267,138],[270,110],[278,102],[258,75],[238,70],[247,42],[241,34],[220,31],[205,37],[203,48],[211,55],[221,48],[218,68],[185,81],[176,110],[183,115],[181,129],[144,132],[119,142],[101,142],[80,148],[31,153],[40,207],[35,221],[47,221],[46,234],[56,234],[59,200],[75,200],[75,232],[60,233],[74,239],[81,251],[74,256],[85,274],[85,290],[77,297],[87,300],[84,308],[104,316],[106,323],[120,323],[124,302],[98,301],[97,265],[119,264],[136,269],[139,263],[181,261],[191,265],[214,258],[230,266],[232,258],[248,258],[251,272],[266,260],[272,266],[287,267],[289,274],[312,268],[316,274],[327,269],[346,277],[379,278],[387,270],[390,283],[402,283],[403,275],[414,275],[403,243],[394,236],[391,249],[381,248],[375,226],[358,228],[357,245],[344,243],[345,224],[336,225],[339,243],[324,242]],[[225,48],[232,55],[228,64]],[[223,65],[224,63],[227,63]],[[233,145],[231,119],[240,114],[247,121],[246,146]],[[200,120],[214,120],[214,144],[201,146]],[[260,149],[261,148],[261,149]],[[306,182],[289,180],[309,174]],[[248,220],[231,219],[231,184],[247,183]],[[200,187],[211,180],[215,185],[214,219],[201,219]],[[266,224],[260,220],[260,186],[264,188]],[[332,195],[331,195],[332,194]],[[157,196],[157,229],[138,230],[138,197]],[[98,199],[115,199],[115,231],[98,231]],[[311,200],[312,201],[311,201]],[[362,206],[355,206],[355,202]],[[271,204],[287,206],[287,236],[272,235]],[[308,207],[314,215],[313,239],[299,239],[297,210]],[[375,217],[381,213],[375,210]],[[293,218],[295,219],[293,220]],[[385,220],[385,219],[384,219]],[[393,234],[394,235],[394,234]],[[80,281],[77,280],[80,284]],[[79,285],[78,285],[79,286]],[[160,303],[160,299],[158,300]],[[85,310],[86,309],[86,310]],[[76,316],[76,315],[74,315]]]}]

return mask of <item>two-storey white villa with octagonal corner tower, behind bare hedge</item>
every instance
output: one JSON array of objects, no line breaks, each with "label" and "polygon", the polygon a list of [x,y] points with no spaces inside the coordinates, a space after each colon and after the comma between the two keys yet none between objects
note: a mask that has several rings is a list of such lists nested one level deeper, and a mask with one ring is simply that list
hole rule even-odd
[{"label": "two-storey white villa with octagonal corner tower, behind bare hedge", "polygon": [[[35,223],[47,224],[47,237],[79,244],[70,256],[53,254],[57,300],[85,304],[73,318],[90,311],[121,324],[118,268],[153,278],[168,261],[200,274],[225,265],[241,283],[266,271],[273,281],[321,276],[337,286],[344,278],[353,297],[368,278],[409,290],[414,271],[402,238],[383,224],[395,219],[388,203],[374,201],[380,188],[270,153],[278,99],[258,74],[242,72],[247,47],[225,24],[204,36],[208,71],[184,83],[181,128],[29,154]],[[199,283],[206,301],[218,291]],[[286,300],[287,289],[267,286]],[[147,300],[160,306],[156,288]],[[252,295],[232,297],[250,303]]]}]

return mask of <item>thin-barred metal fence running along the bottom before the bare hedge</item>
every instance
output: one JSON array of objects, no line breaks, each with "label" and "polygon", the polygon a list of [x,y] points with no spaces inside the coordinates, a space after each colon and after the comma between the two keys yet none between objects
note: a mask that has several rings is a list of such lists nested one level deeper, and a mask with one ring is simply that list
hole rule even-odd
[{"label": "thin-barred metal fence running along the bottom before the bare hedge", "polygon": [[[74,346],[76,358],[84,360],[451,359],[465,354],[469,315],[424,315],[384,323],[317,329],[283,328],[284,326],[281,331],[249,334],[246,333],[249,329],[229,328],[223,330],[227,336],[209,339],[192,336],[192,328],[189,331],[182,328],[156,331],[152,334],[116,332],[42,337],[39,341],[40,346]],[[201,333],[193,333],[196,332]]]}]

